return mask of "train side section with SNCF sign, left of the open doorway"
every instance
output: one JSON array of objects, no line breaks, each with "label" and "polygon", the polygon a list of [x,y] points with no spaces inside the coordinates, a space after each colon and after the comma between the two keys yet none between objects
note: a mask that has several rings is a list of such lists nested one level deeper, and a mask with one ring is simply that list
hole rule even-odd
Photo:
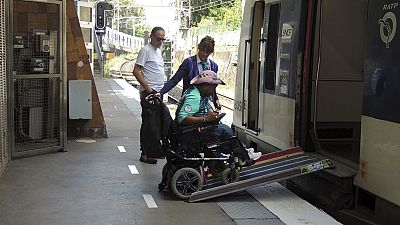
[{"label": "train side section with SNCF sign, left of the open doorway", "polygon": [[[247,1],[233,126],[266,152],[293,147],[305,1]],[[258,145],[258,146],[256,146]]]}]

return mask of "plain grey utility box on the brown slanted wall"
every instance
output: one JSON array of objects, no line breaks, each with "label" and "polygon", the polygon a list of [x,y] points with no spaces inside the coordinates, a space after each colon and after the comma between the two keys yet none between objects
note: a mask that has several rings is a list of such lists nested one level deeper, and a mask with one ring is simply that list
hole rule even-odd
[{"label": "plain grey utility box on the brown slanted wall", "polygon": [[68,81],[70,119],[92,119],[92,81]]}]

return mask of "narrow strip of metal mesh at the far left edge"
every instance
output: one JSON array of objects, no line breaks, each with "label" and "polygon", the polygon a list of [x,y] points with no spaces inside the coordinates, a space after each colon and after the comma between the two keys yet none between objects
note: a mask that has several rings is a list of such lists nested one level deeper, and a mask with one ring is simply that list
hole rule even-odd
[{"label": "narrow strip of metal mesh at the far left edge", "polygon": [[6,20],[5,1],[0,1],[0,174],[8,160],[5,20]]}]

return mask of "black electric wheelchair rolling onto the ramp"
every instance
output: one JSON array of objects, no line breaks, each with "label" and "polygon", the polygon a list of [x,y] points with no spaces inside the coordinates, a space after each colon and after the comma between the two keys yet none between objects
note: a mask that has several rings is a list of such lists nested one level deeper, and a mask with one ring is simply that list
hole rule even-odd
[{"label": "black electric wheelchair rolling onto the ramp", "polygon": [[160,191],[170,190],[176,197],[188,199],[202,189],[209,176],[220,177],[224,184],[236,182],[240,179],[240,169],[254,163],[236,136],[223,142],[202,141],[201,133],[218,126],[225,113],[212,123],[179,127],[159,97],[149,95],[146,101],[161,108],[161,148],[167,162],[158,184]]}]

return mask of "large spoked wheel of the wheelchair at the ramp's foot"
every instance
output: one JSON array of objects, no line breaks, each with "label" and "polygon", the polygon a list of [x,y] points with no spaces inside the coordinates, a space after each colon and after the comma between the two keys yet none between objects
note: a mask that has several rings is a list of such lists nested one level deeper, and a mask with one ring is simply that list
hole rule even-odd
[{"label": "large spoked wheel of the wheelchair at the ramp's foot", "polygon": [[180,199],[189,199],[193,192],[200,191],[202,187],[203,177],[193,168],[184,167],[172,176],[172,192]]}]

